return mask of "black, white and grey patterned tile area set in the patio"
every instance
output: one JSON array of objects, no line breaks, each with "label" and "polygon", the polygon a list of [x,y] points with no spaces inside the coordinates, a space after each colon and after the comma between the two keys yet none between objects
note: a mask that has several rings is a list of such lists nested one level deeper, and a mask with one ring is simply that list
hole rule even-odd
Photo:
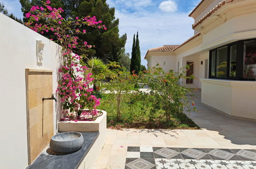
[{"label": "black, white and grey patterned tile area set in the patio", "polygon": [[128,146],[126,169],[255,168],[256,150]]}]

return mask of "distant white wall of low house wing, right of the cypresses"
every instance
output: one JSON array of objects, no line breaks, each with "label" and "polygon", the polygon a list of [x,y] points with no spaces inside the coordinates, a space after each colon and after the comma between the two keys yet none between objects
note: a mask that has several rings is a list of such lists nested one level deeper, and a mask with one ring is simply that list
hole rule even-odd
[{"label": "distant white wall of low house wing, right of the cypresses", "polygon": [[173,69],[176,71],[177,69],[177,61],[176,56],[173,55],[152,55],[149,56],[148,60],[148,67],[154,67],[156,64],[159,64],[161,68],[165,72],[168,72],[169,70]]}]

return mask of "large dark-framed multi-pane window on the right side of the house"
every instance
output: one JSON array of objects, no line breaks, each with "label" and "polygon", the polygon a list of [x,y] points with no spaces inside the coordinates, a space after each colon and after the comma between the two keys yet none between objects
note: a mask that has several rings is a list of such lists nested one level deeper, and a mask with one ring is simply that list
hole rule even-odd
[{"label": "large dark-framed multi-pane window on the right side of the house", "polygon": [[256,39],[210,50],[209,78],[255,80]]}]

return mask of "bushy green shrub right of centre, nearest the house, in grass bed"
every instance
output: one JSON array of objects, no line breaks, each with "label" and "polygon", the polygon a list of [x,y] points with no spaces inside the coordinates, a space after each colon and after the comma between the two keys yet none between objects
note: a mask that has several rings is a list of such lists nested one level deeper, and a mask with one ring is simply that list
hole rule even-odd
[{"label": "bushy green shrub right of centre, nearest the house, in grass bed", "polygon": [[[158,66],[144,72],[143,76],[150,87],[150,98],[153,103],[152,114],[162,109],[166,121],[171,122],[171,117],[180,117],[185,109],[188,112],[195,111],[195,108],[190,106],[187,97],[190,89],[179,85],[181,78],[193,79],[194,76],[187,77],[185,70],[181,72],[170,70],[165,73]],[[192,105],[194,105],[194,102],[192,102]]]}]

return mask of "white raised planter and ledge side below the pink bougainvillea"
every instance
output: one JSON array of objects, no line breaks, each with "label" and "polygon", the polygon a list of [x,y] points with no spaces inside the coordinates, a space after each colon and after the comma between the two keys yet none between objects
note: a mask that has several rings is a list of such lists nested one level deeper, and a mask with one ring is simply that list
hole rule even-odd
[{"label": "white raised planter and ledge side below the pink bougainvillea", "polygon": [[[98,110],[100,111],[100,110]],[[95,121],[60,121],[58,122],[59,132],[99,132],[99,136],[94,141],[88,154],[84,157],[78,168],[93,168],[97,157],[100,155],[106,140],[107,132],[107,112],[97,117]],[[86,141],[86,140],[85,140]]]}]

